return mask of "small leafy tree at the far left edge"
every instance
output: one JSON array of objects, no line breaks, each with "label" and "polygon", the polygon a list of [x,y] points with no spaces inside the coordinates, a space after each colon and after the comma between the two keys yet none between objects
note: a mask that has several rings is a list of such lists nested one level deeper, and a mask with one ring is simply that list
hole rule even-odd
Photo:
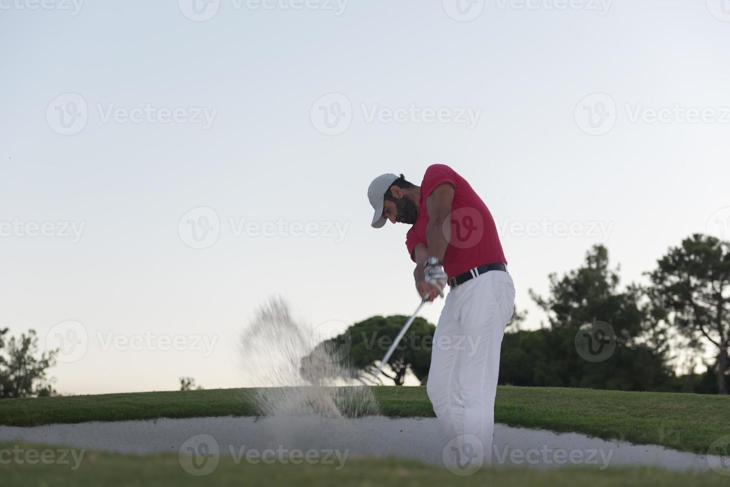
[{"label": "small leafy tree at the far left edge", "polygon": [[0,330],[0,398],[55,394],[46,369],[55,365],[58,350],[39,355],[38,336],[32,329],[19,339],[10,337],[7,342],[3,340],[4,334],[7,329]]}]

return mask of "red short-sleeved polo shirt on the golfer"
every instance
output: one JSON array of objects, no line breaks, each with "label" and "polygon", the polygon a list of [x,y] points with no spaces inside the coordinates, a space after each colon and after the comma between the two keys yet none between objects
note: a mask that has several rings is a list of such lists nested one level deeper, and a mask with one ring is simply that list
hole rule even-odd
[{"label": "red short-sleeved polo shirt on the golfer", "polygon": [[507,264],[487,205],[463,177],[445,164],[429,166],[420,183],[418,218],[406,234],[406,247],[411,258],[415,261],[413,250],[418,243],[428,245],[426,225],[429,223],[429,213],[426,211],[426,198],[443,183],[450,183],[454,187],[451,216],[445,223],[451,226],[451,239],[444,256],[444,271],[448,277],[463,274],[482,264]]}]

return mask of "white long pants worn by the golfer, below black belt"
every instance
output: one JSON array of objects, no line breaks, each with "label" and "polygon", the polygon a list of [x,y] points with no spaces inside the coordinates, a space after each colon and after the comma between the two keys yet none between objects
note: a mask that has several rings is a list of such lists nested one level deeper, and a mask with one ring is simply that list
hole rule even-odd
[{"label": "white long pants worn by the golfer, below black belt", "polygon": [[486,272],[449,291],[434,334],[429,399],[448,440],[480,440],[484,464],[491,464],[499,351],[514,310],[512,277]]}]

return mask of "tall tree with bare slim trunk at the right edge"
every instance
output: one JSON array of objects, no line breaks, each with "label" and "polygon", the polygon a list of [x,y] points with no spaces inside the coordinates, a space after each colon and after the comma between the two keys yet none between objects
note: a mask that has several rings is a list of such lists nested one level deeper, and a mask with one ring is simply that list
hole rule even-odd
[{"label": "tall tree with bare slim trunk at the right edge", "polygon": [[669,248],[648,273],[653,317],[688,340],[697,351],[715,351],[718,394],[728,394],[730,340],[730,242],[694,234]]}]

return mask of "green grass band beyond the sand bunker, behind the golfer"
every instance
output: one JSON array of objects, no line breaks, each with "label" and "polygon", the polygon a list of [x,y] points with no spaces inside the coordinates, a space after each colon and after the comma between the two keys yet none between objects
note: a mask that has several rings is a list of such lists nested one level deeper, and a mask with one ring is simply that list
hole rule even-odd
[{"label": "green grass band beyond the sand bunker, behind the golfer", "polygon": [[[0,399],[0,424],[123,421],[257,415],[251,389]],[[384,415],[433,416],[424,387],[377,387]],[[579,432],[604,439],[704,453],[730,434],[730,397],[578,388],[500,386],[495,420],[510,426]]]}]

